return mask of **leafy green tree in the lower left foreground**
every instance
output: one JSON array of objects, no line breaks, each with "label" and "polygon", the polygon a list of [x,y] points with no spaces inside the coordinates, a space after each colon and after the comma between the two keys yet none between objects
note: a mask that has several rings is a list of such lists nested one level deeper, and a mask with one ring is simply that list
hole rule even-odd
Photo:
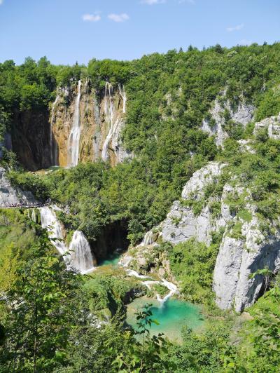
[{"label": "leafy green tree in the lower left foreground", "polygon": [[1,372],[50,372],[63,362],[69,333],[82,317],[80,275],[65,269],[45,230],[6,293]]}]

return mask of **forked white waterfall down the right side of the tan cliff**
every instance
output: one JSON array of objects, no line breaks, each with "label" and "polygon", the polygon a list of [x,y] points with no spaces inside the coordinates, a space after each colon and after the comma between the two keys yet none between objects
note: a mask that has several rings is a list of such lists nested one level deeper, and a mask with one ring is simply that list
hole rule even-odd
[{"label": "forked white waterfall down the right side of the tan cliff", "polygon": [[[123,98],[123,113],[125,113],[125,105],[127,101],[127,96],[125,94],[125,89],[121,88],[120,84],[118,85],[118,90]],[[105,111],[105,118],[106,122],[109,124],[109,133],[106,136],[106,139],[104,141],[103,147],[102,147],[102,160],[107,161],[109,158],[109,144],[111,141],[116,140],[118,141],[118,137],[120,135],[120,129],[123,125],[123,118],[118,115],[116,112],[116,108],[114,105],[114,97],[113,97],[113,86],[111,83],[106,82],[105,85],[105,97],[104,97],[105,103],[104,103],[104,111]]]}]

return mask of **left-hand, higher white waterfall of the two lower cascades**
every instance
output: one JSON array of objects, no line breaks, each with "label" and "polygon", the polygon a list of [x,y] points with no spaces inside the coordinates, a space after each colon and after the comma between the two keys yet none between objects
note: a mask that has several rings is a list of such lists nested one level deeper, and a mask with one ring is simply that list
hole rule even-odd
[{"label": "left-hand, higher white waterfall of the two lower cascades", "polygon": [[[57,219],[54,210],[59,210],[59,208],[55,205],[52,206],[52,209],[48,206],[40,208],[41,225],[47,229],[52,245],[56,247],[59,254],[64,255],[67,247],[63,242],[62,224]],[[52,240],[52,238],[58,238],[59,240]]]}]

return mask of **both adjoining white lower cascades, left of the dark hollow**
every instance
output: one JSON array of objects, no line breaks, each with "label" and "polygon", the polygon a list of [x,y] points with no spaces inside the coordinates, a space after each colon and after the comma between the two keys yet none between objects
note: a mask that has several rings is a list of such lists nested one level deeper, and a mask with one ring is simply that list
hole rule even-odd
[{"label": "both adjoining white lower cascades, left of the dark hollow", "polygon": [[48,231],[50,239],[58,238],[59,240],[51,240],[59,252],[63,255],[63,259],[69,266],[78,269],[80,273],[89,273],[94,270],[94,259],[90,250],[90,244],[87,242],[85,235],[81,231],[75,231],[69,248],[63,241],[63,227],[55,215],[55,210],[60,210],[56,205],[51,208],[40,208],[41,225]]}]

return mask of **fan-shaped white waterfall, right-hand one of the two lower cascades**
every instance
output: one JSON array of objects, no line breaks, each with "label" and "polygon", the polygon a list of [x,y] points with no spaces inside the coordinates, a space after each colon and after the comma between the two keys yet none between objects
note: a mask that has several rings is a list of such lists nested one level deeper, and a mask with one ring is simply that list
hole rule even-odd
[{"label": "fan-shaped white waterfall, right-hand one of the two lower cascades", "polygon": [[78,269],[80,273],[89,273],[94,270],[90,244],[81,231],[75,231],[69,245],[71,266]]}]

